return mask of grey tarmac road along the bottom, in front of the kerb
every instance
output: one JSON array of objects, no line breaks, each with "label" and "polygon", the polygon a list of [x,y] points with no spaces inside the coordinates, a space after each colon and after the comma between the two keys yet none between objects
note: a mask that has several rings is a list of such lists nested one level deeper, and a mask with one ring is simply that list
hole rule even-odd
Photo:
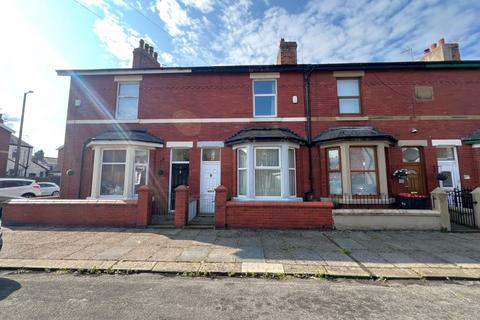
[{"label": "grey tarmac road along the bottom, in front of the kerb", "polygon": [[0,319],[474,319],[480,283],[0,272]]}]

